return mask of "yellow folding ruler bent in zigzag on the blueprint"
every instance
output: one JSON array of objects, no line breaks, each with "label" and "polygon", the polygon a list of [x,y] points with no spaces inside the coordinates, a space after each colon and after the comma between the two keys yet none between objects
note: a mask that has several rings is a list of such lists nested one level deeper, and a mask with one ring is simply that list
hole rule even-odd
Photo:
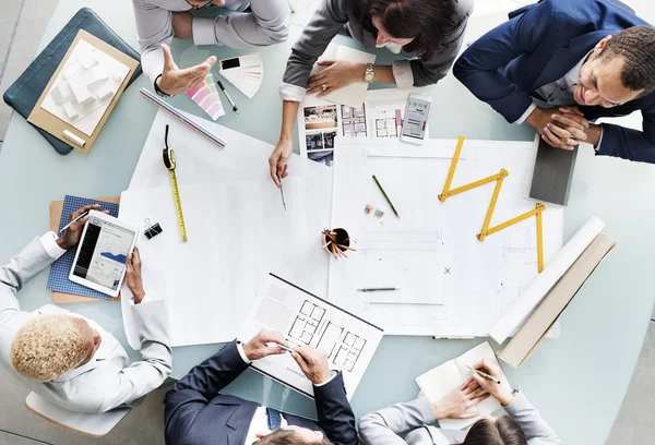
[{"label": "yellow folding ruler bent in zigzag on the blueprint", "polygon": [[460,136],[457,141],[457,146],[455,147],[455,154],[453,155],[453,160],[451,161],[450,170],[448,171],[448,177],[445,178],[445,184],[443,185],[443,193],[439,195],[439,201],[444,202],[449,196],[456,195],[457,193],[463,193],[468,190],[473,190],[477,187],[488,184],[489,182],[496,181],[496,188],[493,189],[493,194],[491,195],[491,201],[489,202],[489,208],[487,209],[487,215],[485,216],[485,221],[483,222],[483,229],[477,234],[477,239],[484,241],[486,237],[489,234],[501,231],[502,229],[507,229],[510,226],[515,225],[524,219],[529,218],[531,216],[536,216],[537,218],[537,268],[539,273],[544,270],[544,228],[541,224],[541,213],[546,209],[546,206],[541,203],[538,203],[537,206],[533,211],[528,211],[523,215],[519,215],[515,218],[509,219],[498,226],[489,228],[491,224],[491,217],[493,216],[493,211],[496,209],[496,203],[498,202],[498,196],[500,195],[500,189],[502,188],[502,180],[508,177],[510,173],[504,168],[500,169],[500,172],[497,175],[492,175],[490,177],[480,179],[478,181],[471,182],[466,185],[458,187],[456,189],[451,190],[451,183],[453,181],[453,177],[455,176],[455,169],[457,168],[457,161],[460,160],[460,154],[462,153],[462,147],[464,146],[464,136]]}]

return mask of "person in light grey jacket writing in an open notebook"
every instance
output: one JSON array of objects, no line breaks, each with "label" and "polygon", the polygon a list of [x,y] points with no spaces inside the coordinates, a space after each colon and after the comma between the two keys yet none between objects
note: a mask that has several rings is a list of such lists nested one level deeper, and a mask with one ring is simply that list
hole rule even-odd
[{"label": "person in light grey jacket writing in an open notebook", "polygon": [[[475,368],[500,375],[500,368],[485,360]],[[498,399],[509,416],[480,419],[468,431],[429,425],[439,419],[471,418],[474,413],[468,409],[489,396]],[[430,402],[428,397],[419,396],[362,417],[359,433],[367,445],[561,445],[523,393],[512,393],[478,373],[441,400]]]}]

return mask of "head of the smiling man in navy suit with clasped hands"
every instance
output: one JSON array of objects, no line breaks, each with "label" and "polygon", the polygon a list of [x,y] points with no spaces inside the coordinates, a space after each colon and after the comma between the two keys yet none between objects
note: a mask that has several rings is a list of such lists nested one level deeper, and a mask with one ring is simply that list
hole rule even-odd
[{"label": "head of the smiling man in navy suit with clasped hands", "polygon": [[655,91],[655,28],[633,26],[600,40],[580,70],[579,105],[617,107]]}]

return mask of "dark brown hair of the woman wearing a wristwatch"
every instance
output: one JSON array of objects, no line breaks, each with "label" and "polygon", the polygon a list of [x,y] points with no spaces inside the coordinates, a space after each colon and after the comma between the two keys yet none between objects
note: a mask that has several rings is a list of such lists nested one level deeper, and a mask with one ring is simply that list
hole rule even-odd
[{"label": "dark brown hair of the woman wearing a wristwatch", "polygon": [[378,33],[372,17],[395,38],[414,38],[403,48],[430,58],[444,44],[445,34],[456,24],[455,0],[359,0],[355,16],[365,29]]}]

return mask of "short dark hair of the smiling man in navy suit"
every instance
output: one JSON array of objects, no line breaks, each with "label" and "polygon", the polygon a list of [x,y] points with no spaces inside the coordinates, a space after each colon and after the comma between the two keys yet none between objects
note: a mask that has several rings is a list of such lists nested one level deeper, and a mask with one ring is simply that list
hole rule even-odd
[{"label": "short dark hair of the smiling man in navy suit", "polygon": [[624,87],[644,94],[655,91],[655,28],[633,26],[612,36],[598,57],[622,56],[626,64],[621,71]]}]

